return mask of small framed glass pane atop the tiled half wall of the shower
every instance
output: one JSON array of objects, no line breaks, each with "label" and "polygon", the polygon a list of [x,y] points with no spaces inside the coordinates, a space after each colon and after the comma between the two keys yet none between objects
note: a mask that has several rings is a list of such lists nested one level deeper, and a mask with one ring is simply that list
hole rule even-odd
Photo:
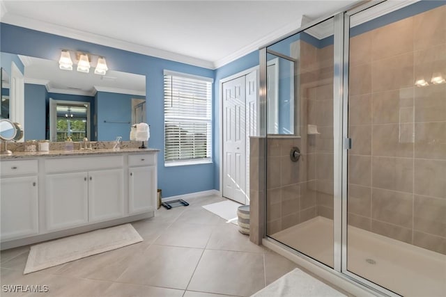
[{"label": "small framed glass pane atop the tiled half wall of the shower", "polygon": [[268,134],[300,136],[298,96],[295,95],[296,60],[268,49],[266,70]]}]

